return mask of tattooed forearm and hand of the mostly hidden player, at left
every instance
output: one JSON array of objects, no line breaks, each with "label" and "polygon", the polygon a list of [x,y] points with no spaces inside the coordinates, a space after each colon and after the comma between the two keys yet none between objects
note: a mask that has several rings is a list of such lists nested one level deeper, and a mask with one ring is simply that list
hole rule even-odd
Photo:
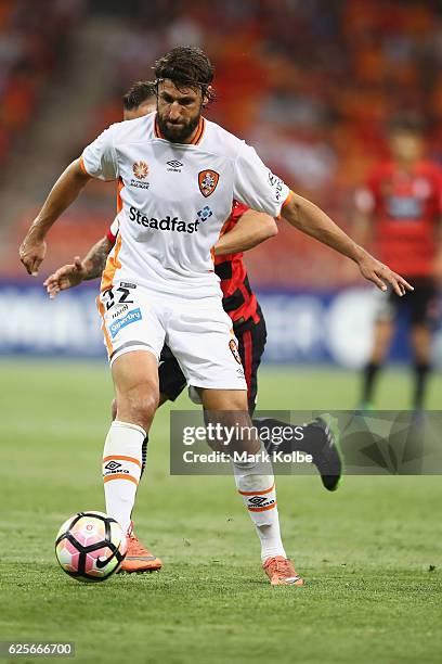
[{"label": "tattooed forearm and hand of the mostly hidden player, at left", "polygon": [[113,246],[114,242],[104,237],[89,250],[82,260],[76,256],[74,263],[64,265],[48,277],[44,285],[50,298],[53,299],[60,291],[73,289],[82,281],[101,277]]}]

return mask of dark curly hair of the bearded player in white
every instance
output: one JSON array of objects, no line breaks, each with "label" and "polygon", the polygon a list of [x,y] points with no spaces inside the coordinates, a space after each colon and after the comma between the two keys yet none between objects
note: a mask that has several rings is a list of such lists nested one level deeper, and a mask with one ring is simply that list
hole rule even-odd
[{"label": "dark curly hair of the bearded player in white", "polygon": [[213,91],[209,89],[214,67],[197,47],[176,47],[155,62],[154,71],[157,85],[168,78],[178,89],[199,89],[209,101],[214,99]]}]

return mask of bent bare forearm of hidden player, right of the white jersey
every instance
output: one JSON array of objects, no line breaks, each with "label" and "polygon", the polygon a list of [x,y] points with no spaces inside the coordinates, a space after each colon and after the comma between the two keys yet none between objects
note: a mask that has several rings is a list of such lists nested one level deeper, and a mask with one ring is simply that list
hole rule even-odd
[{"label": "bent bare forearm of hidden player, right of the white jersey", "polygon": [[214,255],[225,256],[246,252],[276,234],[277,226],[273,217],[255,209],[247,209],[234,228],[218,240],[213,246]]}]

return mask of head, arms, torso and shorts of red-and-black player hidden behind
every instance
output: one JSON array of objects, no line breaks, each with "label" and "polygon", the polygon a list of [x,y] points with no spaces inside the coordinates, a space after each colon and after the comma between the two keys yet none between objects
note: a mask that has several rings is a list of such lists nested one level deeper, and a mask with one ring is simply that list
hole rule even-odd
[{"label": "head, arms, torso and shorts of red-and-black player hidden behind", "polygon": [[[153,81],[135,82],[123,95],[122,105],[125,120],[155,112],[156,84]],[[117,209],[121,209],[119,194]],[[235,231],[230,232],[233,229]],[[73,264],[63,266],[47,279],[48,293],[53,297],[60,290],[101,277],[107,255],[116,242],[118,230],[119,215],[114,219],[107,234],[90,248],[83,260],[77,256]],[[250,210],[246,205],[234,201],[229,219],[223,227],[222,237],[213,247],[214,272],[220,278],[224,311],[232,318],[233,331],[238,341],[248,386],[250,413],[256,407],[257,370],[265,345],[266,330],[263,314],[250,289],[242,252],[276,233],[277,226],[272,217]],[[167,347],[161,354],[159,382],[165,387],[164,391],[160,390],[160,404],[167,399],[176,400],[186,385],[179,363]]]}]

